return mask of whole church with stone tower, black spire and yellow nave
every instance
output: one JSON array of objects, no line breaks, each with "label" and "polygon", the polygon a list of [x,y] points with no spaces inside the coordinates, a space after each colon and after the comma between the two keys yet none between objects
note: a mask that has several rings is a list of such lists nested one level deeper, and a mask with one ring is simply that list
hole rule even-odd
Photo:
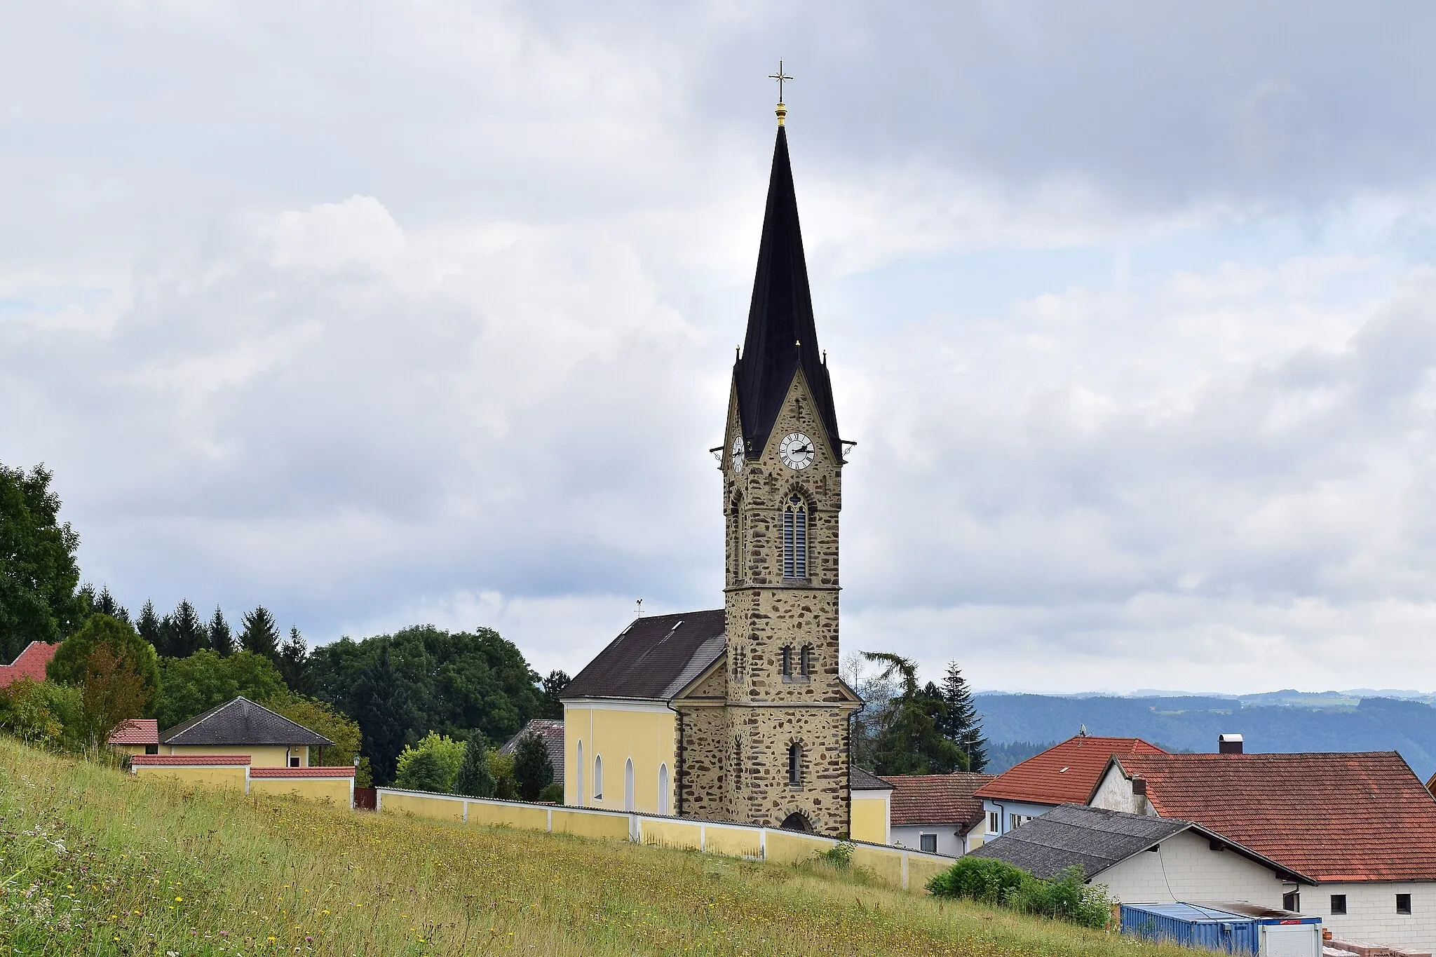
[{"label": "whole church with stone tower, black spire and yellow nave", "polygon": [[748,329],[714,449],[724,607],[639,617],[570,682],[564,803],[885,842],[889,785],[849,766],[862,699],[839,676],[852,443],[817,343],[781,98],[777,116]]}]

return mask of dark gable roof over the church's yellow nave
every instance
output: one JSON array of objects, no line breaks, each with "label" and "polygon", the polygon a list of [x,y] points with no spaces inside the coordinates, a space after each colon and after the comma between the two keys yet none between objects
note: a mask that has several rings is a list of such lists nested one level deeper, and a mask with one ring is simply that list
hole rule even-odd
[{"label": "dark gable roof over the church's yellow nave", "polygon": [[669,702],[722,656],[725,621],[722,608],[635,618],[560,697]]}]

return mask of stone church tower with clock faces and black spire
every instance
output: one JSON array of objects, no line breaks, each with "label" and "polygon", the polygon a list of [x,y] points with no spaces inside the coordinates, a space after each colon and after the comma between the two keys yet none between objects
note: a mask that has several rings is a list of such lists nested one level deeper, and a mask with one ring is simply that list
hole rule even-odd
[{"label": "stone church tower with clock faces and black spire", "polygon": [[748,330],[724,435],[727,815],[837,835],[849,829],[849,716],[839,677],[843,448],[819,349],[784,125]]}]

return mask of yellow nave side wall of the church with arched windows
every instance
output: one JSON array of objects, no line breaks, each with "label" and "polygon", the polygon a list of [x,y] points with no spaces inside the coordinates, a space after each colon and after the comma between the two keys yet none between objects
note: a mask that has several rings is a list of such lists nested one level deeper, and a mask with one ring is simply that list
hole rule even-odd
[{"label": "yellow nave side wall of the church with arched windows", "polygon": [[[661,709],[661,710],[659,710]],[[633,809],[659,814],[658,769],[668,766],[668,814],[676,814],[673,783],[676,715],[666,707],[636,704],[563,709],[563,802],[572,808],[623,811],[623,765],[633,760]],[[579,793],[579,742],[583,742],[583,795]],[[593,759],[603,758],[603,798],[593,796]]]}]

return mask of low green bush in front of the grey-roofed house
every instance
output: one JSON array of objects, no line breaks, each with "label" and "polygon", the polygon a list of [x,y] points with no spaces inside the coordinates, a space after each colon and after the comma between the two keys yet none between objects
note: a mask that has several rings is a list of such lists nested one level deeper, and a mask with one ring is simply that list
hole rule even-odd
[{"label": "low green bush in front of the grey-roofed house", "polygon": [[1088,885],[1076,865],[1051,881],[1043,881],[1007,861],[964,857],[928,881],[928,892],[997,904],[1083,927],[1103,928],[1111,918],[1111,900],[1106,890]]}]

